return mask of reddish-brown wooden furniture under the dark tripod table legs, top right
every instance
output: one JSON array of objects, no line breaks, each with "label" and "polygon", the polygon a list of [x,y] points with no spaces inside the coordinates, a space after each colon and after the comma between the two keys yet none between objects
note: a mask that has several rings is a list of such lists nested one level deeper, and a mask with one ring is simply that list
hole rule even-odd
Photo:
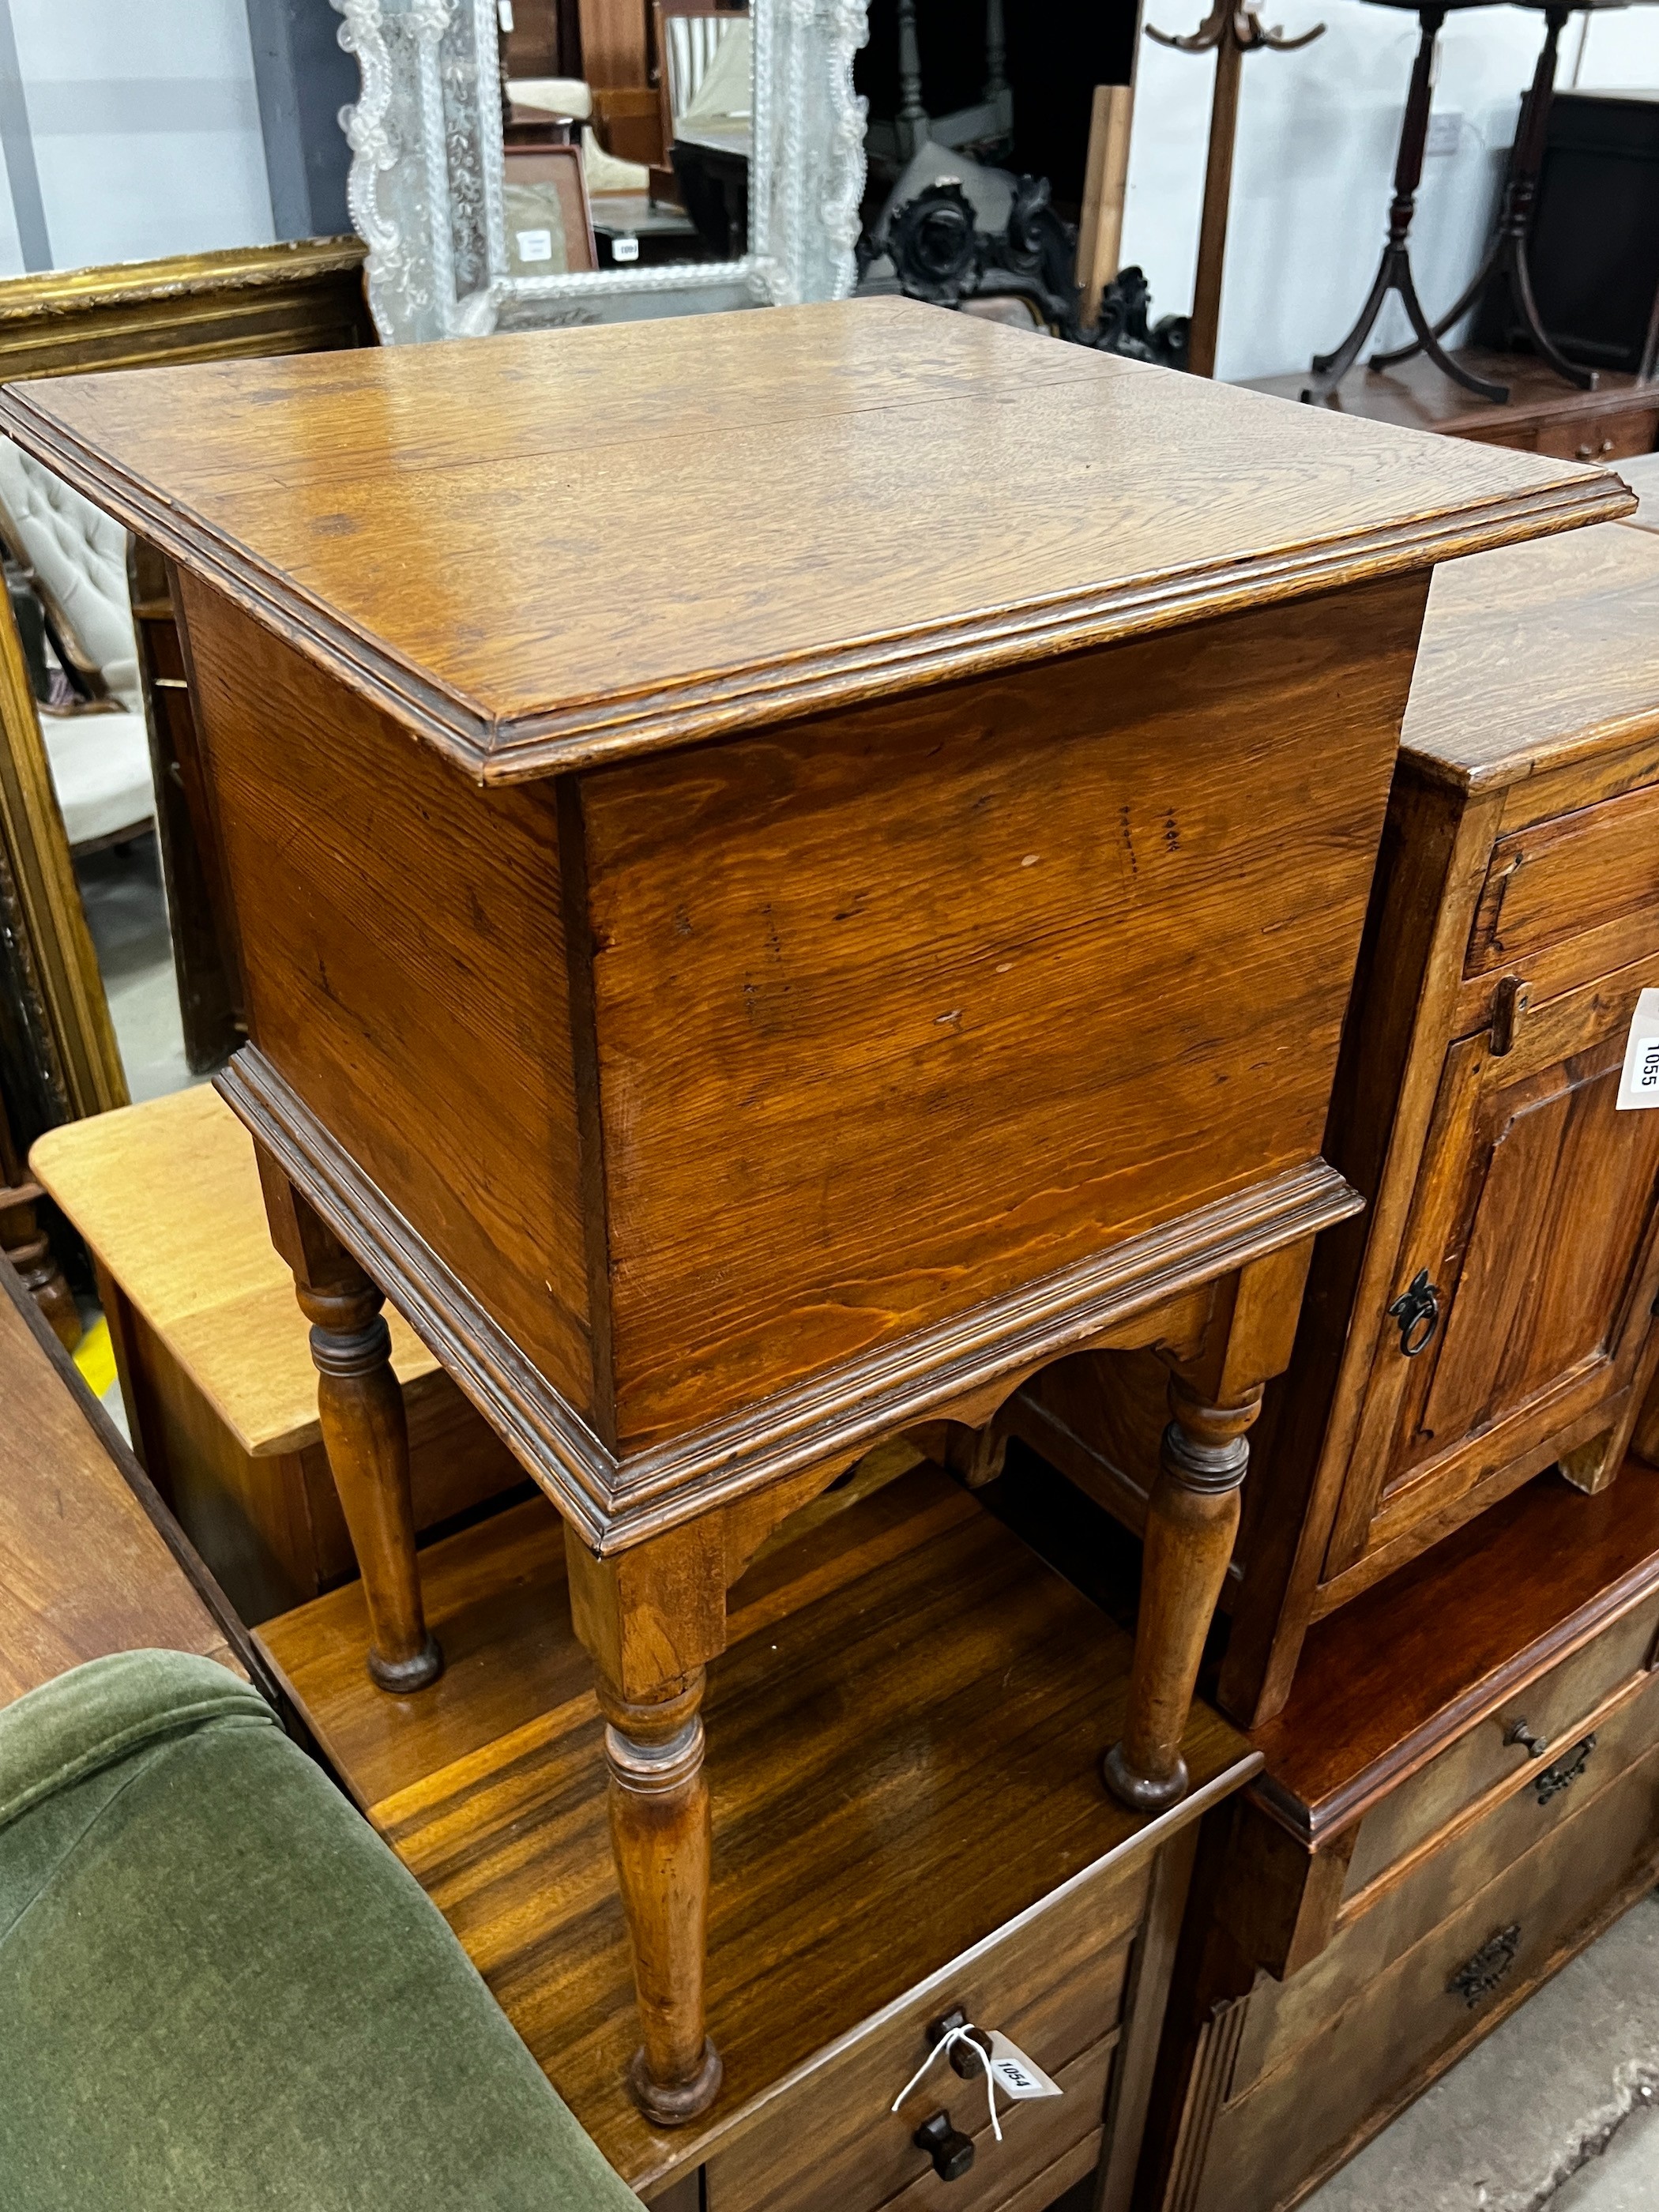
[{"label": "reddish-brown wooden furniture under the dark tripod table legs, top right", "polygon": [[[1593,392],[1575,392],[1531,354],[1460,345],[1453,358],[1473,376],[1506,385],[1509,400],[1473,398],[1418,354],[1391,369],[1354,367],[1327,398],[1310,405],[1559,460],[1617,462],[1652,453],[1659,445],[1659,383],[1604,369]],[[1301,369],[1296,376],[1256,376],[1248,389],[1296,400],[1305,383],[1307,372]]]}]

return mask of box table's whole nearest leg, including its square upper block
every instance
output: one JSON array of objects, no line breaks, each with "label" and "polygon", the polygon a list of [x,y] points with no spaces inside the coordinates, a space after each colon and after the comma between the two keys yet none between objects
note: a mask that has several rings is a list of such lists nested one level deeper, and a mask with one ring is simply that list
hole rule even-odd
[{"label": "box table's whole nearest leg, including its square upper block", "polygon": [[721,2086],[703,2024],[710,1823],[703,1666],[726,1646],[719,1515],[608,1559],[566,1526],[571,1621],[597,1670],[611,1774],[611,1849],[628,1913],[641,2042],[628,2088],[659,2128]]}]

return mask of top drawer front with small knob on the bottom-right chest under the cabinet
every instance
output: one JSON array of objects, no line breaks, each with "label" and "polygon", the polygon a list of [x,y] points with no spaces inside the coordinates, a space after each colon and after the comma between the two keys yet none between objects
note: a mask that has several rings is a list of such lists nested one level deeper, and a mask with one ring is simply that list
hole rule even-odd
[{"label": "top drawer front with small knob on the bottom-right chest under the cabinet", "polygon": [[[1562,1659],[1526,1690],[1517,1690],[1500,1712],[1480,1721],[1420,1774],[1394,1790],[1360,1823],[1360,1838],[1347,1869],[1343,1896],[1352,1898],[1407,1851],[1427,1843],[1447,1820],[1455,1820],[1478,1796],[1522,1767],[1544,1772],[1564,1752],[1595,1708],[1610,1692],[1646,1668],[1659,1630],[1659,1597],[1646,1599],[1624,1619],[1613,1621],[1582,1650]],[[1528,1734],[1544,1736],[1548,1750],[1537,1759],[1524,1743],[1504,1743],[1509,1730],[1524,1721]]]}]

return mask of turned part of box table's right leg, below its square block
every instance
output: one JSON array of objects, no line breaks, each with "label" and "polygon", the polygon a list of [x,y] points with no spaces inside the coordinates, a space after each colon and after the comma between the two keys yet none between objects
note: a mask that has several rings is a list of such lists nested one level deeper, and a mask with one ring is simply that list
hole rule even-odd
[{"label": "turned part of box table's right leg, below its square block", "polygon": [[1179,1378],[1170,1383],[1175,1418],[1146,1504],[1128,1723],[1104,1765],[1106,1787],[1135,1812],[1159,1812],[1188,1790],[1181,1736],[1239,1533],[1245,1429],[1259,1411],[1259,1385],[1239,1405],[1219,1407],[1190,1398]]}]

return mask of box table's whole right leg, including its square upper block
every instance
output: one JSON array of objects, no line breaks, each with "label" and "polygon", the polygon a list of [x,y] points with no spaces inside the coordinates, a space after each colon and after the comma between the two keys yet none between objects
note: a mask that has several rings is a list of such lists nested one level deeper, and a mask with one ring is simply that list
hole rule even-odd
[{"label": "box table's whole right leg, including its square upper block", "polygon": [[1239,1533],[1248,1431],[1263,1385],[1290,1363],[1310,1256],[1303,1239],[1221,1285],[1201,1352],[1170,1376],[1170,1425],[1146,1502],[1128,1719],[1104,1761],[1106,1787],[1135,1812],[1161,1812],[1188,1790],[1181,1736]]}]

